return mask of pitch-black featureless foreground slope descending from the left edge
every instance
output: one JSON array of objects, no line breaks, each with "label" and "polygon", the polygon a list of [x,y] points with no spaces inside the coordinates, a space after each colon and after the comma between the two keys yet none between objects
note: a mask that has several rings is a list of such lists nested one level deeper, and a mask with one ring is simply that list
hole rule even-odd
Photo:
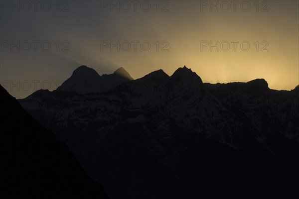
[{"label": "pitch-black featureless foreground slope descending from the left edge", "polygon": [[4,198],[108,199],[102,186],[86,176],[65,144],[1,86],[0,94]]}]

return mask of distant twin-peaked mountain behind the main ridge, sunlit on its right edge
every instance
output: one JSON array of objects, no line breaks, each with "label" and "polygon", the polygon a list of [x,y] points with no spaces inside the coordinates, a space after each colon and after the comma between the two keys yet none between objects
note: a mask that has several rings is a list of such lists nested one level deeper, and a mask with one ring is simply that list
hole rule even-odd
[{"label": "distant twin-peaked mountain behind the main ridge, sunlit on its right edge", "polygon": [[94,69],[80,66],[57,88],[57,91],[71,91],[79,94],[105,92],[131,80],[133,78],[123,67],[113,74],[100,76]]}]

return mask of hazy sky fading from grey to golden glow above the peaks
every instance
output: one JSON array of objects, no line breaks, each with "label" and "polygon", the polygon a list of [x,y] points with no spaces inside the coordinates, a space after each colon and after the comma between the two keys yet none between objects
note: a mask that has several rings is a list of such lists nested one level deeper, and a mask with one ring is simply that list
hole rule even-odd
[{"label": "hazy sky fading from grey to golden glow above the peaks", "polygon": [[17,99],[55,90],[81,65],[299,84],[298,0],[0,0],[0,42],[0,84]]}]

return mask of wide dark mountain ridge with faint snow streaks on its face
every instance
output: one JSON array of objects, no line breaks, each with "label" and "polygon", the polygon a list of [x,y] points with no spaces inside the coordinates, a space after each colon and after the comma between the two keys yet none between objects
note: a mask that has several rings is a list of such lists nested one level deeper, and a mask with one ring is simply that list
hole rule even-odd
[{"label": "wide dark mountain ridge with faint snow streaks on its face", "polygon": [[186,67],[102,93],[40,90],[21,105],[112,199],[295,199],[299,92],[203,84]]}]

